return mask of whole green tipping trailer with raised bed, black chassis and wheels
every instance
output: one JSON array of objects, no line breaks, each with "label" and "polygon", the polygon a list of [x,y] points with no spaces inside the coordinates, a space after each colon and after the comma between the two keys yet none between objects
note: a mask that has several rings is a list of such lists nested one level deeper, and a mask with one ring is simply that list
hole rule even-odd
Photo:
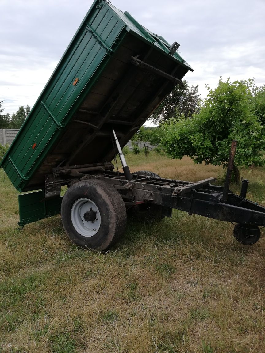
[{"label": "whole green tipping trailer with raised bed, black chassis and wheels", "polygon": [[[170,45],[107,0],[95,0],[4,156],[1,166],[18,196],[19,225],[61,213],[68,237],[96,250],[123,234],[126,210],[144,220],[172,208],[238,223],[234,235],[253,244],[265,208],[224,187],[131,174],[122,148],[193,69]],[[120,156],[123,173],[114,171]],[[61,196],[61,186],[67,186]],[[34,191],[37,190],[37,191]],[[34,191],[24,193],[25,191]]]}]

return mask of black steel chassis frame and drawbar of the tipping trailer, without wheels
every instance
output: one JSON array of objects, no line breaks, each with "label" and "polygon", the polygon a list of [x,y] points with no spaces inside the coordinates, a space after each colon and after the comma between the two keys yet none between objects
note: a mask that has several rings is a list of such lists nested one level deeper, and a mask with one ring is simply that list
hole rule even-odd
[{"label": "black steel chassis frame and drawbar of the tipping trailer, without wheels", "polygon": [[[174,208],[219,221],[265,226],[265,208],[257,203],[235,195],[230,190],[223,202],[222,186],[211,185],[209,178],[197,183],[187,181],[133,175],[125,180],[124,174],[105,172],[104,175],[87,175],[81,180],[95,178],[111,184],[128,202],[152,203]],[[177,193],[176,193],[177,192]],[[128,205],[130,205],[128,203]],[[133,204],[131,204],[133,205]]]}]

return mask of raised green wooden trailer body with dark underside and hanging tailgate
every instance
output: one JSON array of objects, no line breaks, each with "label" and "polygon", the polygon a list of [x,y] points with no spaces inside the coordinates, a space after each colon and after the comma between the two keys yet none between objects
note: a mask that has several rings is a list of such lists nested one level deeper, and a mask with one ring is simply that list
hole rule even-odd
[{"label": "raised green wooden trailer body with dark underside and hanging tailgate", "polygon": [[22,223],[60,212],[60,200],[41,202],[53,168],[110,162],[112,128],[123,148],[193,71],[177,48],[94,1],[1,162],[20,192],[43,190],[19,196]]}]

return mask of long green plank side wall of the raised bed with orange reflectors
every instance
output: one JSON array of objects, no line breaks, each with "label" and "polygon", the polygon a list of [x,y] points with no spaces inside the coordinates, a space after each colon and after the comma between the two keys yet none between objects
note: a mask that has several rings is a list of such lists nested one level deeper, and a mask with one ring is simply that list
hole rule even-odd
[{"label": "long green plank side wall of the raised bed with orange reflectors", "polygon": [[[2,160],[2,167],[19,191],[23,191],[26,179],[34,174],[60,136],[61,129],[88,94],[112,50],[117,48],[117,38],[120,40],[124,36],[121,35],[124,23],[105,2],[101,8],[97,8],[98,3],[95,1],[90,8]],[[73,85],[76,78],[78,82]],[[11,165],[8,156],[16,167]]]}]

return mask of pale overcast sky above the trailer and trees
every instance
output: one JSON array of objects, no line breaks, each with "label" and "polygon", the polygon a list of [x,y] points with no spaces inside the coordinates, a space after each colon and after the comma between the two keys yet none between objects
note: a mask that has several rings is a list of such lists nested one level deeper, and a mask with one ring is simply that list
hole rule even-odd
[{"label": "pale overcast sky above the trailer and trees", "polygon": [[[92,0],[0,0],[0,101],[4,113],[31,107]],[[186,79],[215,88],[224,79],[265,83],[265,0],[113,0],[143,26],[180,43]]]}]

